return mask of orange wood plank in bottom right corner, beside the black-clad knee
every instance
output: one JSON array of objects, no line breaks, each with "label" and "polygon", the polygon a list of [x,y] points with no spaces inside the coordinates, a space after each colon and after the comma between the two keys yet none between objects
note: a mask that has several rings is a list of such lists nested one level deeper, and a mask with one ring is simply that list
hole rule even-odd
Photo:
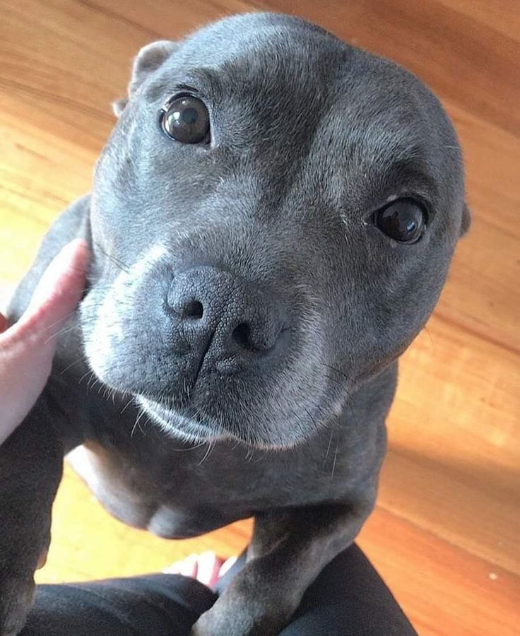
[{"label": "orange wood plank in bottom right corner, beside the black-clad knee", "polygon": [[519,577],[380,508],[358,543],[420,635],[518,635]]}]

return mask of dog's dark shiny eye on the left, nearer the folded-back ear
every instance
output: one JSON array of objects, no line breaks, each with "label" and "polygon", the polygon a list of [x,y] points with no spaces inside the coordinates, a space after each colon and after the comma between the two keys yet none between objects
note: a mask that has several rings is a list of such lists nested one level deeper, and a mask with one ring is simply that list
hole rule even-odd
[{"label": "dog's dark shiny eye on the left, nearer the folded-back ear", "polygon": [[193,95],[179,95],[170,100],[160,112],[160,125],[168,136],[181,143],[208,141],[208,109]]}]

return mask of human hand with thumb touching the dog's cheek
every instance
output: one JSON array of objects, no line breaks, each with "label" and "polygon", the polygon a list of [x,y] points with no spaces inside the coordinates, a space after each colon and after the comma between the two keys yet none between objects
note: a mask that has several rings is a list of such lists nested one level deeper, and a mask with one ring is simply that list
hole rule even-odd
[{"label": "human hand with thumb touching the dog's cheek", "polygon": [[49,264],[18,322],[6,329],[0,314],[0,444],[27,416],[45,387],[55,336],[81,300],[89,259],[85,241],[71,241]]}]

